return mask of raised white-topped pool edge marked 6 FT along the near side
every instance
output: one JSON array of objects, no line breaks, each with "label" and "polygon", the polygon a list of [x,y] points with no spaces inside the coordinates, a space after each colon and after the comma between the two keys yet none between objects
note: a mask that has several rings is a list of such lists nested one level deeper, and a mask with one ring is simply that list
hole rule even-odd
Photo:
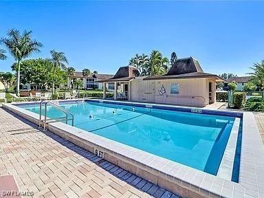
[{"label": "raised white-topped pool edge marked 6 FT along the near side", "polygon": [[[12,104],[3,104],[3,108],[21,115],[23,118],[30,120],[30,122],[39,123],[39,115],[36,113],[21,109]],[[176,190],[175,193],[181,197],[244,197],[245,195],[250,195],[250,191],[245,190],[241,184],[215,177],[162,157],[157,157],[156,155],[113,140],[108,140],[99,135],[83,133],[85,131],[76,127],[61,122],[51,123],[48,127],[53,133],[92,153],[94,153],[94,149],[104,152],[104,159],[107,159],[109,162],[129,170],[131,173],[144,179],[153,181],[153,183],[172,192]]]}]

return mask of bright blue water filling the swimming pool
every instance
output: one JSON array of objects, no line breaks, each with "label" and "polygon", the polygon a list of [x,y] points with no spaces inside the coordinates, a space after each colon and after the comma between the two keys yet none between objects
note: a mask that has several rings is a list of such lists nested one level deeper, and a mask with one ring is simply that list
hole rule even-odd
[{"label": "bright blue water filling the swimming pool", "polygon": [[[74,126],[80,129],[213,175],[234,123],[234,118],[226,116],[97,102],[60,106],[74,113]],[[39,113],[39,105],[21,108]],[[62,115],[54,107],[47,109],[50,118]]]}]

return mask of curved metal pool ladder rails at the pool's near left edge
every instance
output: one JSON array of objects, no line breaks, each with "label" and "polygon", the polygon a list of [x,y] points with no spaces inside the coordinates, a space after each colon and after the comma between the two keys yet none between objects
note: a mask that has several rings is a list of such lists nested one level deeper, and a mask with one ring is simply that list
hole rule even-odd
[{"label": "curved metal pool ladder rails at the pool's near left edge", "polygon": [[[41,115],[41,110],[42,110],[42,104],[43,103],[45,103],[44,120],[42,120],[42,115]],[[63,113],[65,113],[65,117],[52,118],[52,119],[48,118],[47,119],[47,104],[52,105],[53,107],[55,107],[59,111],[63,111]],[[71,115],[72,118],[69,118],[69,115]],[[58,106],[58,104],[56,104],[55,102],[43,100],[43,101],[41,101],[41,103],[39,103],[39,127],[43,126],[44,130],[47,129],[47,124],[48,123],[58,122],[58,121],[65,121],[66,124],[68,124],[69,120],[72,120],[72,126],[74,126],[74,114],[72,114],[71,112],[67,111],[66,109],[63,109],[62,107]]]}]

